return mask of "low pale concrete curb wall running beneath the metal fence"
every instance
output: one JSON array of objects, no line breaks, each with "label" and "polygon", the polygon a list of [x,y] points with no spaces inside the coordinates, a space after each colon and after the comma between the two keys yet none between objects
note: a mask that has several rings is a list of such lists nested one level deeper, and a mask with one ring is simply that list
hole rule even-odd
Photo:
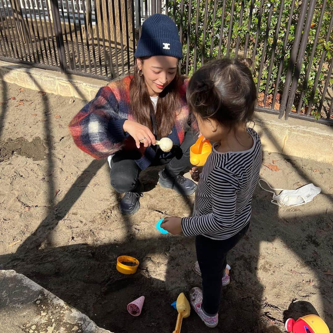
[{"label": "low pale concrete curb wall running beneath the metal fence", "polygon": [[[47,93],[93,99],[107,81],[61,74],[0,61],[0,80]],[[285,155],[333,163],[333,127],[276,115],[255,113],[255,130],[263,149]]]}]

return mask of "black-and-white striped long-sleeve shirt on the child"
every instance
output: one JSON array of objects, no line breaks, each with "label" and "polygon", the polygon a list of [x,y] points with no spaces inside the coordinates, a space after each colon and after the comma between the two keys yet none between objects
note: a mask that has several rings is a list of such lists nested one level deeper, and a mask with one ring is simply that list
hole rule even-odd
[{"label": "black-and-white striped long-sleeve shirt on the child", "polygon": [[250,221],[261,166],[261,142],[253,129],[247,132],[253,138],[249,150],[220,153],[213,147],[200,175],[193,216],[181,220],[186,236],[227,239]]}]

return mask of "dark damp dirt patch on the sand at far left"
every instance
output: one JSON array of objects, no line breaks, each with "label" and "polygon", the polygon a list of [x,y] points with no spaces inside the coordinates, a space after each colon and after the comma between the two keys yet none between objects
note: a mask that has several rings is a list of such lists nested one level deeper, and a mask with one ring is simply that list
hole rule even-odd
[{"label": "dark damp dirt patch on the sand at far left", "polygon": [[22,137],[15,140],[9,138],[0,142],[0,162],[9,160],[14,154],[31,158],[33,161],[42,161],[45,159],[46,147],[41,138],[33,138],[32,141]]}]

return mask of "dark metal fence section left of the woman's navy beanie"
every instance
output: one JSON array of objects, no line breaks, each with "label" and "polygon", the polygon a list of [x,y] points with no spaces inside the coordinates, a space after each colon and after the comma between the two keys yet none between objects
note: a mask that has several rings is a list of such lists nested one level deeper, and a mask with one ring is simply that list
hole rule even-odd
[{"label": "dark metal fence section left of the woman's navy beanie", "polygon": [[0,0],[0,58],[106,80],[134,62],[131,0]]}]

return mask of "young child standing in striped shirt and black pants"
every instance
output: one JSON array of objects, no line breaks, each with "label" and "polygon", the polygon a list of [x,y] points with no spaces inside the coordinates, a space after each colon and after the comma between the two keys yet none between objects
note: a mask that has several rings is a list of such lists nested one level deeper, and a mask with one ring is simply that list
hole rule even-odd
[{"label": "young child standing in striped shirt and black pants", "polygon": [[192,288],[190,302],[208,327],[218,323],[226,255],[245,235],[251,218],[253,191],[261,166],[261,142],[247,127],[254,113],[256,87],[250,59],[215,60],[191,78],[187,102],[200,133],[215,144],[198,180],[192,217],[167,217],[161,227],[172,234],[195,236],[202,290]]}]

